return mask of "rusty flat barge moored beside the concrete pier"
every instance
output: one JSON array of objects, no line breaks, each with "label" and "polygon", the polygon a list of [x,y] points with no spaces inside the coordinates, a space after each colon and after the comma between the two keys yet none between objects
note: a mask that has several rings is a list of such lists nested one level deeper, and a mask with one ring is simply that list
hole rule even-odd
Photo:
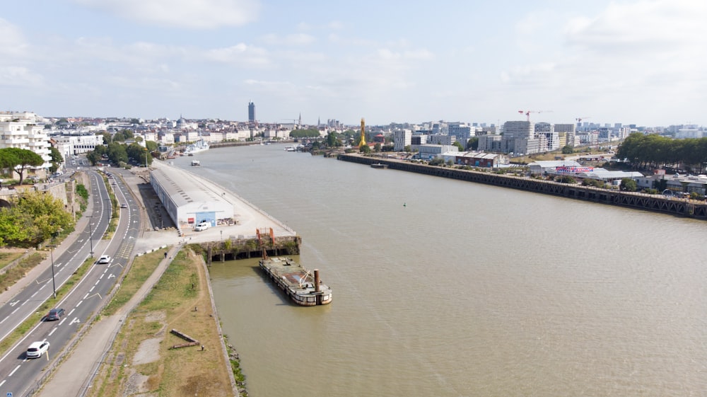
[{"label": "rusty flat barge moored beside the concrete pier", "polygon": [[291,258],[279,256],[261,258],[259,265],[296,304],[317,306],[332,302],[332,289],[322,283],[319,270],[310,272]]}]

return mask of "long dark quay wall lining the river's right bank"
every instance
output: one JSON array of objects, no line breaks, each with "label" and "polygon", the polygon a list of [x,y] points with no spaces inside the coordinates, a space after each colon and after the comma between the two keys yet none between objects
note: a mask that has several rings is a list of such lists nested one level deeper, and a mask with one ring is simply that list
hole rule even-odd
[{"label": "long dark quay wall lining the river's right bank", "polygon": [[647,211],[662,212],[664,214],[707,220],[707,204],[694,200],[676,200],[662,195],[606,190],[590,186],[557,183],[551,180],[429,166],[427,164],[411,163],[409,161],[395,159],[378,159],[358,154],[339,154],[337,159],[352,163],[366,164],[368,166],[384,164],[391,170],[423,173],[429,176],[440,176],[443,178],[501,186],[503,188],[526,190],[529,192],[544,193],[546,195],[568,197],[601,204],[618,205],[619,207],[644,209]]}]

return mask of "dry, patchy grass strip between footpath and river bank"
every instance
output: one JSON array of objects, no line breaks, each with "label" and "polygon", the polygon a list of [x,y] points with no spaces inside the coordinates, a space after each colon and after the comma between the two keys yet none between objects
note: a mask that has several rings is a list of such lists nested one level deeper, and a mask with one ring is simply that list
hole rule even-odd
[{"label": "dry, patchy grass strip between footpath and river bank", "polygon": [[[158,262],[163,254],[144,256],[151,255]],[[89,395],[233,396],[230,364],[221,350],[206,283],[201,258],[180,251],[158,284],[128,316]],[[186,343],[170,333],[172,329],[199,344],[171,348]]]}]

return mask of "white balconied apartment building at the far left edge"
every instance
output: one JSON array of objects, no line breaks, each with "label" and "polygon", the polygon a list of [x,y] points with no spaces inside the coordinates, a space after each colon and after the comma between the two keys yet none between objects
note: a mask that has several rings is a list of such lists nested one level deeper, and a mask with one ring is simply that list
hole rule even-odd
[{"label": "white balconied apartment building at the far left edge", "polygon": [[44,127],[36,125],[34,113],[0,113],[0,149],[16,147],[28,149],[42,156],[45,163],[37,168],[49,168],[49,136]]}]

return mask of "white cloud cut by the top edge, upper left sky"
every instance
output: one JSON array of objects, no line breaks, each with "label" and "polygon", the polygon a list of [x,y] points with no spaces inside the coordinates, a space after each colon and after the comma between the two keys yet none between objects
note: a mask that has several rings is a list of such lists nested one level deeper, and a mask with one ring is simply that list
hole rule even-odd
[{"label": "white cloud cut by the top edge, upper left sky", "polygon": [[257,0],[74,0],[89,8],[146,25],[214,29],[255,21]]}]

